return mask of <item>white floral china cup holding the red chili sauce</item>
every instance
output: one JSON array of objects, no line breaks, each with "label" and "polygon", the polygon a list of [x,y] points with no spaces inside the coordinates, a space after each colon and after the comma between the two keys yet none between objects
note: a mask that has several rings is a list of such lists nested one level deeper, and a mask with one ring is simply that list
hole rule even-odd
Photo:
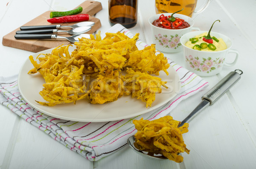
[{"label": "white floral china cup holding the red chili sauce", "polygon": [[[194,26],[194,21],[191,17],[183,14],[174,14],[174,17],[179,17],[189,23],[189,27],[185,29],[164,29],[154,26],[152,23],[158,19],[161,14],[156,14],[148,19],[151,26],[151,33],[153,35],[153,43],[156,44],[156,49],[161,52],[175,53],[182,51],[180,44],[180,37],[191,30],[200,30]],[[172,13],[164,13],[164,16],[172,15]]]}]

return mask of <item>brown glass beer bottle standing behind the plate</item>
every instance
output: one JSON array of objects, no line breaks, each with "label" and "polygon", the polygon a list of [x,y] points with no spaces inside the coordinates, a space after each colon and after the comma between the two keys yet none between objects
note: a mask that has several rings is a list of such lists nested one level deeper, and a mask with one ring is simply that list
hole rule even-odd
[{"label": "brown glass beer bottle standing behind the plate", "polygon": [[108,0],[109,22],[111,26],[120,23],[125,28],[137,23],[138,0]]}]

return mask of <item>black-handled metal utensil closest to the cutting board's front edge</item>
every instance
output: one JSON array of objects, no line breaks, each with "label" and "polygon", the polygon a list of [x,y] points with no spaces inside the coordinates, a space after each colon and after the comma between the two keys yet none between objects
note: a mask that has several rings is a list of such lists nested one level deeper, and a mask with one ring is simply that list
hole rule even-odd
[{"label": "black-handled metal utensil closest to the cutting board's front edge", "polygon": [[58,36],[57,34],[15,34],[16,39],[66,39],[70,42],[79,42],[79,38],[90,38],[90,34],[76,34],[70,37]]}]

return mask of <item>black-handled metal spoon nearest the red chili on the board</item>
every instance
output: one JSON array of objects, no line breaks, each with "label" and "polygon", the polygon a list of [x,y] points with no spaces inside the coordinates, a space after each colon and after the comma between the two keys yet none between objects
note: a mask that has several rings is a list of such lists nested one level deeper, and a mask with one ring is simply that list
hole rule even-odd
[{"label": "black-handled metal spoon nearest the red chili on the board", "polygon": [[42,26],[21,26],[20,30],[35,30],[35,29],[62,29],[62,28],[78,28],[82,26],[93,26],[95,23],[90,21],[79,22],[74,25],[42,25]]}]

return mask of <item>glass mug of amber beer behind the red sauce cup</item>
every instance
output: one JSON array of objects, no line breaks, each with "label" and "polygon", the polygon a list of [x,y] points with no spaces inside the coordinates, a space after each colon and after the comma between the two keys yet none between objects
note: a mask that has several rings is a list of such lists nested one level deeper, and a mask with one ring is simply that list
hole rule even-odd
[{"label": "glass mug of amber beer behind the red sauce cup", "polygon": [[179,14],[192,17],[192,14],[199,14],[207,8],[211,0],[207,0],[207,3],[195,11],[195,7],[198,0],[155,0],[155,7],[157,13],[174,13],[180,11]]}]

